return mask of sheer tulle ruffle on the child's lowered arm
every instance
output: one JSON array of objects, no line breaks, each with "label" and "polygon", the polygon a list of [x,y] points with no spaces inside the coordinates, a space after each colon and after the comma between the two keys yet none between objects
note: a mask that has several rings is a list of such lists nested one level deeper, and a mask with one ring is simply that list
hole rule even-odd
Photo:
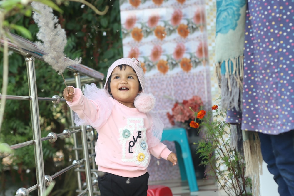
[{"label": "sheer tulle ruffle on the child's lowered arm", "polygon": [[160,143],[164,124],[154,113],[147,113],[147,116],[151,120],[151,128],[146,133],[148,148],[151,148]]}]

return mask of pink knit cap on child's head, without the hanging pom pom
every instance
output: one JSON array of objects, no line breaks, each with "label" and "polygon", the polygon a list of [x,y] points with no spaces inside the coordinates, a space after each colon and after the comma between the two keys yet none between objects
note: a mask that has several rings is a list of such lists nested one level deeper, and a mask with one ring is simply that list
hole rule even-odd
[{"label": "pink knit cap on child's head, without the hanging pom pom", "polygon": [[142,87],[142,92],[145,93],[145,91],[144,91],[145,90],[144,71],[143,71],[143,69],[141,67],[140,61],[138,61],[136,58],[121,58],[121,59],[118,59],[118,60],[114,61],[114,63],[112,63],[112,65],[108,69],[104,89],[108,90],[107,81],[108,81],[109,77],[111,76],[111,73],[112,73],[113,69],[116,68],[119,65],[129,65],[135,70],[135,72],[136,72],[136,74],[138,76],[139,82],[141,84],[141,87]]}]

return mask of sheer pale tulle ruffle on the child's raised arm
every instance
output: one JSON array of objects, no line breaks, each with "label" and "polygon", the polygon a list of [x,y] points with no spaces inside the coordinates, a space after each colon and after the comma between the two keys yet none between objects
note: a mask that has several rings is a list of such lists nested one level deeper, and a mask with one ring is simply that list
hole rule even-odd
[{"label": "sheer pale tulle ruffle on the child's raised arm", "polygon": [[104,89],[97,88],[96,84],[92,83],[91,85],[86,84],[84,89],[84,95],[88,98],[89,101],[92,101],[94,105],[96,105],[99,118],[90,119],[84,118],[81,119],[77,113],[74,113],[74,123],[77,126],[80,125],[91,125],[94,128],[100,128],[105,124],[106,120],[109,118],[112,108],[113,102],[109,97],[108,93]]}]

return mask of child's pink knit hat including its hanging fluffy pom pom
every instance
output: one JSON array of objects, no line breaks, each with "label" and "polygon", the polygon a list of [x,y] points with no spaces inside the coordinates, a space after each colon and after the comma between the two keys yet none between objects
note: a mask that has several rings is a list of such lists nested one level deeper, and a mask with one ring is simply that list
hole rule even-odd
[{"label": "child's pink knit hat including its hanging fluffy pom pom", "polygon": [[151,93],[145,94],[144,71],[141,67],[141,63],[136,58],[121,58],[114,61],[108,69],[104,89],[108,92],[108,79],[111,76],[113,69],[119,65],[129,65],[135,70],[142,87],[142,92],[135,98],[134,105],[140,112],[150,112],[154,108],[155,97]]}]

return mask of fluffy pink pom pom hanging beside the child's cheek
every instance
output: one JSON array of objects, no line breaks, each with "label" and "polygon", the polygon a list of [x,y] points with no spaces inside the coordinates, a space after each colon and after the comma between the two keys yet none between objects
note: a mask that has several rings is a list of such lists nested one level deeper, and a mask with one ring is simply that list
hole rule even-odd
[{"label": "fluffy pink pom pom hanging beside the child's cheek", "polygon": [[155,97],[150,94],[140,93],[134,101],[135,107],[143,113],[150,112],[155,105]]}]

